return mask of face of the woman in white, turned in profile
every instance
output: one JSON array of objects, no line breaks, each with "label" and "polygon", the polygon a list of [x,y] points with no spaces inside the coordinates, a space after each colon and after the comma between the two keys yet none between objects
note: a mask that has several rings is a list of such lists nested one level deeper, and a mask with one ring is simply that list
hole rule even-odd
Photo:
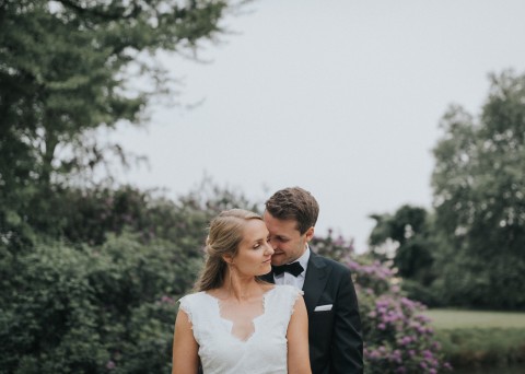
[{"label": "face of the woman in white, turned in profile", "polygon": [[268,230],[261,220],[249,220],[243,232],[233,266],[246,276],[262,276],[271,271],[273,248],[268,243]]}]

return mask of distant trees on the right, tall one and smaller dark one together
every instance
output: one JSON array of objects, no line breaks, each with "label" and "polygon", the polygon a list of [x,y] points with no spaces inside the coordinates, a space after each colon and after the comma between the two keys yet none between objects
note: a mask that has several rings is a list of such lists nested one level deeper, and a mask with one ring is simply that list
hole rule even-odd
[{"label": "distant trees on the right, tall one and smaller dark one together", "polygon": [[433,149],[433,208],[374,214],[371,250],[429,305],[525,309],[525,75],[491,77],[477,116],[453,106]]}]

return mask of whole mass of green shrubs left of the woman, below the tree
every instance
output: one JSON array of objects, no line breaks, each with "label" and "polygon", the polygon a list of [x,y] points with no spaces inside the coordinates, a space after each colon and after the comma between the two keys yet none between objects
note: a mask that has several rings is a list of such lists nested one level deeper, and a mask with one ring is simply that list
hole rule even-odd
[{"label": "whole mass of green shrubs left of the woman, below the tree", "polygon": [[168,373],[175,301],[197,278],[209,220],[255,207],[209,182],[176,201],[62,192],[47,224],[25,222],[31,235],[0,232],[0,373]]}]

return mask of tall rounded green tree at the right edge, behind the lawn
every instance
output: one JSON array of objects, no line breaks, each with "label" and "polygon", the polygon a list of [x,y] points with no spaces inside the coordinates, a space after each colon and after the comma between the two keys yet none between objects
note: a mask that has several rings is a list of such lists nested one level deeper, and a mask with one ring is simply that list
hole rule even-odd
[{"label": "tall rounded green tree at the right edge, behind the lawn", "polygon": [[525,308],[525,75],[491,75],[478,118],[443,117],[432,176],[442,296],[455,304]]}]

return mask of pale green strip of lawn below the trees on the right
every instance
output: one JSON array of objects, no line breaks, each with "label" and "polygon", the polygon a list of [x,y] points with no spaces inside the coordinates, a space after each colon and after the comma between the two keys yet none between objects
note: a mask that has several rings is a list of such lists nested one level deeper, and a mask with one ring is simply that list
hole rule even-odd
[{"label": "pale green strip of lawn below the trees on the right", "polygon": [[456,328],[516,328],[525,329],[525,313],[429,309],[435,329]]}]

